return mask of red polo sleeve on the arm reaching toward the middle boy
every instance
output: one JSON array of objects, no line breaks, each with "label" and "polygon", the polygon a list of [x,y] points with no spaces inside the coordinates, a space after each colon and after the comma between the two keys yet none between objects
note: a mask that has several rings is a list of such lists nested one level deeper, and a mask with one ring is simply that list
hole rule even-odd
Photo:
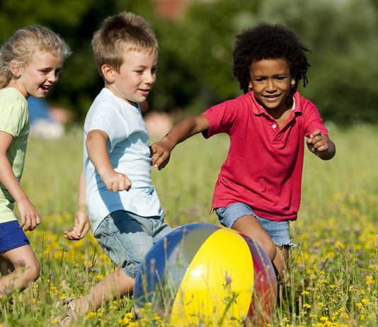
[{"label": "red polo sleeve on the arm reaching toward the middle boy", "polygon": [[225,101],[219,105],[214,105],[203,113],[207,120],[209,120],[209,130],[203,136],[205,138],[212,137],[214,134],[227,133],[229,134],[234,122],[238,118],[239,111],[237,110],[235,100]]}]

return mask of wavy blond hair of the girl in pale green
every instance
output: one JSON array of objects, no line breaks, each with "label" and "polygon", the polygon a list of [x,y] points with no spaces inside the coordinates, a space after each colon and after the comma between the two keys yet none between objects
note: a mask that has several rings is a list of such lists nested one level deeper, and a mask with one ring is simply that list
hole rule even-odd
[{"label": "wavy blond hair of the girl in pale green", "polygon": [[20,67],[27,67],[35,51],[45,51],[57,57],[67,58],[71,54],[69,46],[57,33],[40,25],[29,25],[16,30],[0,47],[0,89],[12,79],[11,61]]}]

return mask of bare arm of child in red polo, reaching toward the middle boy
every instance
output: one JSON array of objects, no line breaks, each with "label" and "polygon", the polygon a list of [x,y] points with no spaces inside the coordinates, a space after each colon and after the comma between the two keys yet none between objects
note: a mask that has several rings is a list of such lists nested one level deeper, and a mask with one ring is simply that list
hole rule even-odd
[{"label": "bare arm of child in red polo, reaching toward the middle boy", "polygon": [[209,129],[209,121],[204,115],[188,117],[173,127],[159,142],[151,144],[151,166],[162,169],[169,161],[171,151],[180,142]]}]

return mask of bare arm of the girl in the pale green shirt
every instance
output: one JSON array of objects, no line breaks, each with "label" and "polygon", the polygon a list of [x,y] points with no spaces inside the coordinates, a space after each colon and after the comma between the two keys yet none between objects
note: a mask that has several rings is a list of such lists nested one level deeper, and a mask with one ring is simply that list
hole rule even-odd
[{"label": "bare arm of the girl in the pale green shirt", "polygon": [[21,188],[20,183],[18,183],[16,176],[14,176],[11,163],[6,157],[6,151],[8,151],[12,142],[13,137],[11,134],[0,131],[0,181],[17,202],[18,211],[21,216],[20,227],[25,231],[33,231],[33,229],[40,224],[40,216]]}]

